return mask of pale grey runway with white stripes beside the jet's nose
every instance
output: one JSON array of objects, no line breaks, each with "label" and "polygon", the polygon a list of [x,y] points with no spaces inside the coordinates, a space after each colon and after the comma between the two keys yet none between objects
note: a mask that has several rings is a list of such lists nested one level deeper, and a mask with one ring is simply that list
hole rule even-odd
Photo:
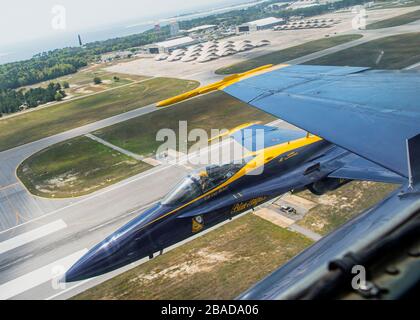
[{"label": "pale grey runway with white stripes beside the jet's nose", "polygon": [[[52,266],[55,261],[90,248],[103,240],[107,234],[161,198],[185,174],[186,170],[180,166],[164,165],[69,203],[29,223],[3,231],[0,234],[0,243],[9,250],[6,252],[3,249],[2,252],[0,247],[0,297],[7,294],[5,291],[8,291],[7,283],[10,281],[15,281],[45,265]],[[36,231],[51,224],[59,225],[60,228],[44,230],[44,235],[40,234],[39,230]],[[28,236],[31,232],[34,233],[34,230],[36,237]],[[26,239],[22,239],[22,235]],[[32,276],[37,277],[37,274]],[[45,285],[54,274],[50,276],[50,279],[44,278],[46,281],[43,281],[44,287],[40,291],[37,289],[38,285],[31,287],[27,281],[24,282],[21,285],[23,291],[13,298],[45,299],[56,294],[51,283]],[[28,290],[35,290],[36,295],[33,295],[33,292],[26,293]]]}]

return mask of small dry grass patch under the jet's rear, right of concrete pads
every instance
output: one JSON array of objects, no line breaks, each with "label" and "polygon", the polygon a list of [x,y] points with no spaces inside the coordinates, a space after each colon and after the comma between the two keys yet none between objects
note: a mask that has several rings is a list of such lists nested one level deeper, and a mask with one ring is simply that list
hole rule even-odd
[{"label": "small dry grass patch under the jet's rear, right of concrete pads", "polygon": [[384,199],[397,188],[396,185],[355,181],[322,196],[309,191],[300,192],[300,197],[318,203],[299,221],[299,225],[316,233],[326,235],[363,210]]}]

